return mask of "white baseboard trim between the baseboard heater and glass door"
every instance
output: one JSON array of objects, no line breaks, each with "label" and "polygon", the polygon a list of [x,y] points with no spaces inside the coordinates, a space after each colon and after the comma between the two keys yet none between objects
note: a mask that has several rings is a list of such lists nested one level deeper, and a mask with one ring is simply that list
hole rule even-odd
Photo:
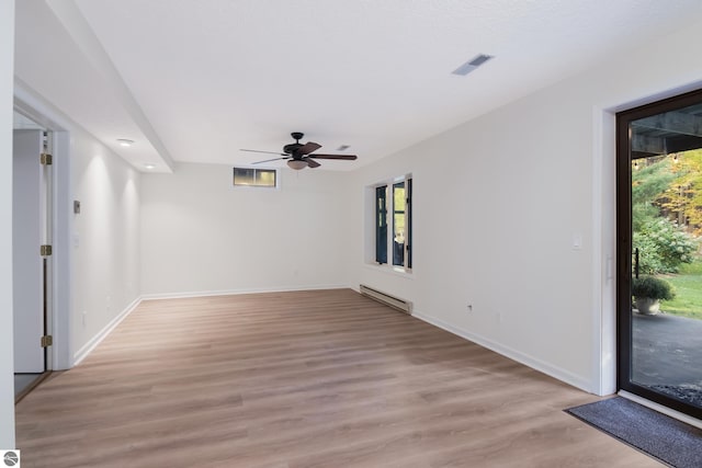
[{"label": "white baseboard trim between the baseboard heater and glass door", "polygon": [[479,344],[483,347],[487,347],[490,351],[495,351],[498,354],[501,354],[503,356],[509,357],[510,359],[514,359],[518,363],[521,363],[525,366],[529,366],[533,369],[536,369],[543,374],[546,374],[553,378],[556,378],[561,381],[564,381],[568,385],[571,385],[576,388],[579,388],[580,390],[585,390],[588,393],[595,393],[592,391],[592,383],[578,376],[575,375],[568,370],[562,369],[557,366],[554,366],[552,364],[548,363],[544,363],[541,359],[537,359],[533,356],[530,356],[528,354],[524,354],[520,351],[513,350],[509,346],[505,346],[503,344],[497,343],[492,340],[489,340],[485,336],[480,336],[478,334],[475,333],[471,333],[466,330],[460,329],[457,327],[454,327],[450,323],[444,322],[443,320],[427,315],[427,313],[422,313],[419,312],[417,310],[412,311],[412,317],[417,317],[420,320],[423,320],[428,323],[431,323],[432,326],[439,327],[440,329],[443,329],[448,332],[451,332],[455,335],[458,335],[461,338],[463,338],[464,340],[468,340],[472,341],[476,344]]}]

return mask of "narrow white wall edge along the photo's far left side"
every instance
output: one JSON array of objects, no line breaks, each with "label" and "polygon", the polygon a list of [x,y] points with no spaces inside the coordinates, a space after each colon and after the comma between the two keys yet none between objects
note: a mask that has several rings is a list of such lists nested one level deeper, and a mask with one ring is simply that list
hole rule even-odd
[{"label": "narrow white wall edge along the photo's far left side", "polygon": [[14,448],[12,357],[12,81],[14,0],[0,2],[0,448]]}]

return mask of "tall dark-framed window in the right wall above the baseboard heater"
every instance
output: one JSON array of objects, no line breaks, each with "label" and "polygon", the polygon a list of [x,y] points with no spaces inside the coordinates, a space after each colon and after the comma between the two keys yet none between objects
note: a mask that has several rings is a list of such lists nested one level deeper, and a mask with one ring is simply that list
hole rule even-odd
[{"label": "tall dark-framed window in the right wall above the baseboard heater", "polygon": [[412,267],[411,198],[412,179],[410,176],[375,187],[375,261],[377,263],[387,264],[389,251],[393,266],[406,271]]}]

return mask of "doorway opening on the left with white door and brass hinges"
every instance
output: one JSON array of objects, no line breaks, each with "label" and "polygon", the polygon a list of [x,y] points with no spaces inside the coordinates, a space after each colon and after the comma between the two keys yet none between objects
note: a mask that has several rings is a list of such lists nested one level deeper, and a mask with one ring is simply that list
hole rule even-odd
[{"label": "doorway opening on the left with white door and brass hinges", "polygon": [[13,343],[14,396],[20,401],[53,368],[53,135],[14,112]]}]

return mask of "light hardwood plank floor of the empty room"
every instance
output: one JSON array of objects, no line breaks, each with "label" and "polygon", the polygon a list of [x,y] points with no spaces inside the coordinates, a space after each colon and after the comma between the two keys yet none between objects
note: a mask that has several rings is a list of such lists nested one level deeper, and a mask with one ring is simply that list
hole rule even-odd
[{"label": "light hardwood plank floor of the empty room", "polygon": [[597,398],[350,289],[143,303],[16,407],[29,467],[658,467]]}]

